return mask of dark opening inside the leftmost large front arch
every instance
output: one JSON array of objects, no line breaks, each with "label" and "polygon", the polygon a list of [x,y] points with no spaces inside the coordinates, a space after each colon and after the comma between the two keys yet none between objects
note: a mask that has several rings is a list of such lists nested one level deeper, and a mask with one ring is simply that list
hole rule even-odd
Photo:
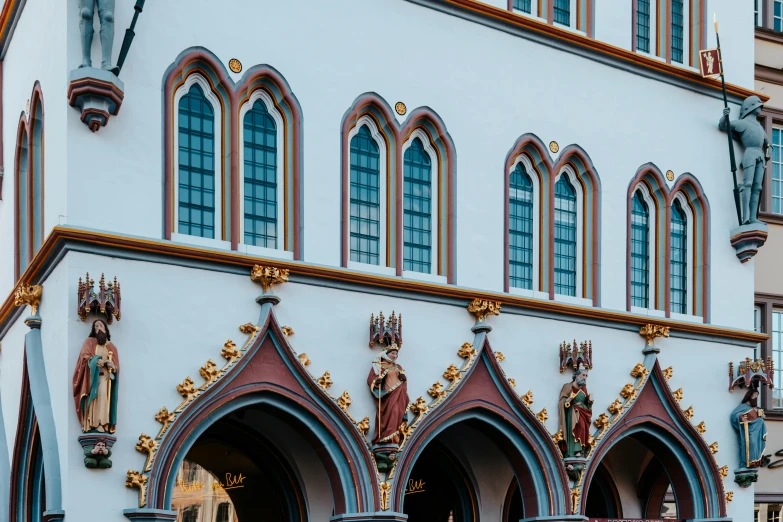
[{"label": "dark opening inside the leftmost large front arch", "polygon": [[[297,431],[296,421],[263,406],[216,421],[177,471],[171,497],[177,521],[253,522],[262,516],[264,522],[307,522],[297,463],[304,460],[312,468],[310,474],[321,479],[319,486],[328,490],[329,484],[313,449],[304,446],[304,439],[294,440]],[[323,495],[315,496],[323,504]],[[333,508],[331,498],[327,500],[329,514]]]}]

